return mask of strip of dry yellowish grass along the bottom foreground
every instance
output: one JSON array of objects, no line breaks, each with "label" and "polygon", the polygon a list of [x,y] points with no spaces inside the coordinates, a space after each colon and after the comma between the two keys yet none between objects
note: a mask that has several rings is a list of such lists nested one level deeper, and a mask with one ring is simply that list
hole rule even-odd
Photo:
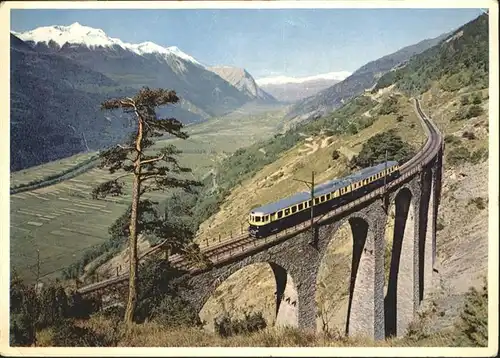
[{"label": "strip of dry yellowish grass along the bottom foreground", "polygon": [[[150,322],[134,325],[127,332],[115,322],[94,317],[87,322],[77,322],[77,327],[98,332],[102,343],[117,347],[450,347],[454,332],[443,332],[421,340],[412,338],[374,341],[369,338],[335,338],[312,334],[291,327],[270,327],[262,331],[223,338],[215,333],[192,327],[166,328]],[[87,331],[88,332],[88,331]],[[55,330],[44,329],[38,334],[42,347],[54,346]],[[80,346],[90,335],[80,336]],[[94,342],[95,343],[95,342]],[[69,342],[66,342],[69,344]]]}]

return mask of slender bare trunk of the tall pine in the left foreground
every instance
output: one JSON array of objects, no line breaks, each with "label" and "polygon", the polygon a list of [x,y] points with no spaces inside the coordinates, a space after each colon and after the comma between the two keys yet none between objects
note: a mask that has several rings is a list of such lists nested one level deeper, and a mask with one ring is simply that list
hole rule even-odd
[{"label": "slender bare trunk of the tall pine in the left foreground", "polygon": [[129,255],[130,255],[130,273],[128,282],[128,301],[127,309],[125,310],[125,324],[130,325],[134,322],[135,310],[137,308],[137,218],[139,209],[139,199],[141,191],[141,143],[142,143],[142,119],[138,115],[139,126],[137,129],[137,137],[135,149],[137,152],[134,161],[134,183],[132,187],[132,211],[130,214],[130,238],[129,238]]}]

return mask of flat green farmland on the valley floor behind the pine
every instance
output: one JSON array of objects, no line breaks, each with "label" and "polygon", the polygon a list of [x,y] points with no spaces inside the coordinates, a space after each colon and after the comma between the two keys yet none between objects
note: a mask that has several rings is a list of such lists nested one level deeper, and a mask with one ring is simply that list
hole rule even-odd
[{"label": "flat green farmland on the valley floor behind the pine", "polygon": [[[186,128],[187,140],[159,141],[155,147],[172,143],[184,153],[180,162],[200,178],[216,162],[236,149],[274,134],[282,111],[258,115],[233,114]],[[11,187],[62,172],[90,158],[85,153],[11,174]],[[115,174],[116,175],[116,174]],[[45,188],[11,195],[11,267],[33,280],[40,250],[40,275],[57,277],[63,268],[78,260],[86,249],[108,239],[108,227],[126,210],[130,195],[93,200],[92,188],[114,175],[93,168],[75,178]],[[130,183],[127,183],[129,186]],[[127,187],[126,186],[126,187]],[[125,190],[125,192],[128,192]],[[149,195],[159,202],[168,192]]]}]

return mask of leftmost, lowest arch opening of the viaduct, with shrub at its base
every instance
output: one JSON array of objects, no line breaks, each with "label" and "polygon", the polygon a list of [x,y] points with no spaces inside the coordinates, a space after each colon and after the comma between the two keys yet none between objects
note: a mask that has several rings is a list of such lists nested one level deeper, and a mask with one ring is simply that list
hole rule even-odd
[{"label": "leftmost, lowest arch opening of the viaduct, with shrub at its base", "polygon": [[214,318],[224,312],[242,317],[245,311],[261,312],[268,326],[298,327],[297,287],[282,265],[261,261],[229,270],[213,283],[199,316],[213,330]]}]

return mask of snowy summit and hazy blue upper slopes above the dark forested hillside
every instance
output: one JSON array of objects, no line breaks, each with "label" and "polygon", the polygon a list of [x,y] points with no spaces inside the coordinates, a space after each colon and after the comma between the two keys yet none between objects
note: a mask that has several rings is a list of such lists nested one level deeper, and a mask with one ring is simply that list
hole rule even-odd
[{"label": "snowy summit and hazy blue upper slopes above the dark forested hillside", "polygon": [[178,107],[199,117],[204,114],[200,119],[222,115],[253,100],[175,46],[131,44],[79,23],[13,34],[41,53],[70,58],[122,86],[174,89],[181,98]]}]

